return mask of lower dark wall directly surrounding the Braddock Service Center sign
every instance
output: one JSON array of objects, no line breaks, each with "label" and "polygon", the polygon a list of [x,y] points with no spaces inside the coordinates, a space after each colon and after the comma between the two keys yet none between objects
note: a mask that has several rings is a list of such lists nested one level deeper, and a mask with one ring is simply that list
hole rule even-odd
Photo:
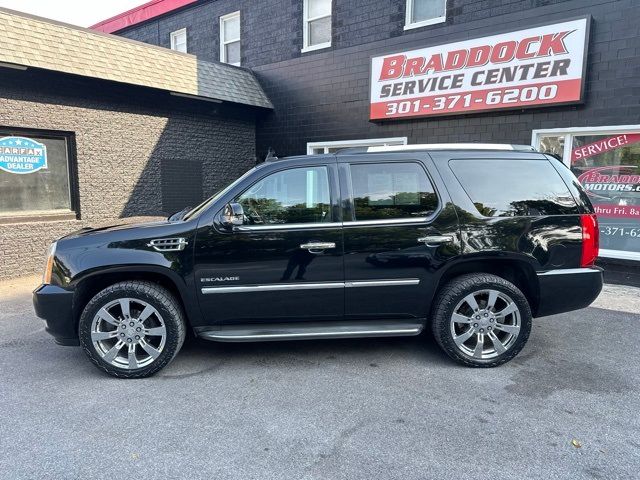
[{"label": "lower dark wall directly surrounding the Braddock Service Center sign", "polygon": [[[518,3],[522,8],[514,7]],[[405,136],[409,143],[529,144],[534,129],[640,124],[637,1],[574,0],[532,9],[525,9],[526,4],[530,2],[508,2],[507,13],[496,13],[494,18],[454,22],[433,31],[418,29],[386,40],[256,66],[258,79],[275,106],[258,124],[258,152],[272,146],[277,155],[295,155],[306,153],[307,142]],[[593,20],[583,105],[368,121],[371,56],[559,22],[586,13]]]}]

